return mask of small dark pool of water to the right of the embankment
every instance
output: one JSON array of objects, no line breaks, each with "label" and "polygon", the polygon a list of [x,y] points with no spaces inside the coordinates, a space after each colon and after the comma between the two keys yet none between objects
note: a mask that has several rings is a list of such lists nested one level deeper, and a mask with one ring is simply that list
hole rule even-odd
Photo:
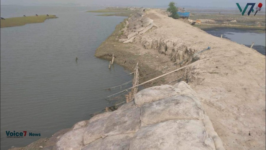
[{"label": "small dark pool of water to the right of the embankment", "polygon": [[253,49],[257,50],[259,53],[265,55],[266,53],[266,34],[258,33],[254,30],[240,30],[232,28],[214,28],[214,29],[205,29],[205,31],[213,36],[230,39],[239,44],[243,44],[247,47],[250,47],[252,42],[254,42]]}]

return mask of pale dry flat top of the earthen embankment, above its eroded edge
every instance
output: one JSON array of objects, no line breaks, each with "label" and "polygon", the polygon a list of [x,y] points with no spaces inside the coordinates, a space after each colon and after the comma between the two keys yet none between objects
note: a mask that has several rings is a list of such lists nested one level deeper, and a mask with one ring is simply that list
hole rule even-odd
[{"label": "pale dry flat top of the earthen embankment, above its eroded edge", "polygon": [[226,149],[265,149],[265,56],[160,11],[151,10],[147,15],[153,16],[158,26],[148,34],[176,37],[186,45],[210,46],[212,49],[202,53],[200,59],[231,56],[191,67],[189,85],[198,93]]}]

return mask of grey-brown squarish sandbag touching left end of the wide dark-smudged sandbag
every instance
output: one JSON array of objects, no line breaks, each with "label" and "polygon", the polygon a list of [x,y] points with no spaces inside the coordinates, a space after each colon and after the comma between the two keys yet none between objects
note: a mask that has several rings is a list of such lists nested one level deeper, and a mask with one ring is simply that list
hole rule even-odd
[{"label": "grey-brown squarish sandbag touching left end of the wide dark-smudged sandbag", "polygon": [[113,111],[104,125],[102,137],[135,133],[140,129],[140,108],[127,109],[125,111]]}]

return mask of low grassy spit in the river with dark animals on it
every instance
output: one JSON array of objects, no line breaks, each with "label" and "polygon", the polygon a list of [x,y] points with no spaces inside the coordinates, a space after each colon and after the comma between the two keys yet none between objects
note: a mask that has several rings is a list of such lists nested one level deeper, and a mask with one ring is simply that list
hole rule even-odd
[{"label": "low grassy spit in the river with dark animals on it", "polygon": [[55,15],[39,15],[39,16],[26,16],[26,17],[13,17],[5,18],[1,20],[0,27],[12,27],[12,26],[23,26],[25,24],[41,23],[46,19],[58,18]]}]

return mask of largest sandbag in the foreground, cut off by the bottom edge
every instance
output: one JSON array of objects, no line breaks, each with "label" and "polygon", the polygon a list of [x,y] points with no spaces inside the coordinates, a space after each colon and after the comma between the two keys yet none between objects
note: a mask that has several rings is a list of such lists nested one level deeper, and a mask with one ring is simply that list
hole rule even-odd
[{"label": "largest sandbag in the foreground, cut off by the bottom edge", "polygon": [[140,128],[129,150],[215,150],[202,120],[170,120]]}]

